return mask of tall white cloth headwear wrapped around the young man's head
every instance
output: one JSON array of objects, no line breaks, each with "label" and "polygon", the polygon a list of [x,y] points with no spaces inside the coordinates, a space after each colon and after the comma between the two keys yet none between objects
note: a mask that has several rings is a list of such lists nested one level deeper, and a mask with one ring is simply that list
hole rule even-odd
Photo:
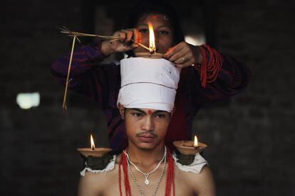
[{"label": "tall white cloth headwear wrapped around the young man's head", "polygon": [[162,58],[125,58],[120,66],[121,89],[117,104],[126,108],[172,111],[180,68]]}]

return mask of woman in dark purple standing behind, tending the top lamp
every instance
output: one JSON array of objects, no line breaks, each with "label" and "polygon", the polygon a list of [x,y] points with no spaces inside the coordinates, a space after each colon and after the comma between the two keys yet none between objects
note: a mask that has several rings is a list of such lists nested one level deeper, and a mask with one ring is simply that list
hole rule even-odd
[{"label": "woman in dark purple standing behind, tending the top lamp", "polygon": [[[99,104],[108,121],[110,147],[115,153],[123,151],[128,140],[117,108],[120,65],[101,62],[112,53],[128,53],[132,57],[146,52],[138,43],[149,45],[148,22],[151,22],[157,53],[165,54],[164,58],[182,68],[176,110],[165,137],[167,146],[173,148],[172,141],[191,138],[197,111],[241,92],[249,82],[250,72],[242,62],[207,45],[185,43],[176,11],[170,5],[140,1],[130,13],[125,28],[114,33],[120,40],[98,41],[74,51],[69,88]],[[66,81],[68,61],[69,55],[65,55],[52,65],[53,76],[62,84]]]}]

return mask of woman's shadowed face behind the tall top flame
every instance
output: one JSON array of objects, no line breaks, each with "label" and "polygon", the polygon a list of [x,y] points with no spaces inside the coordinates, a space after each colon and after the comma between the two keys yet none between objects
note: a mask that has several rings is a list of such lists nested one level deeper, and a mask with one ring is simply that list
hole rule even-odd
[{"label": "woman's shadowed face behind the tall top flame", "polygon": [[[148,14],[140,18],[135,28],[141,33],[143,45],[150,46],[150,34],[148,30],[148,22],[152,23],[152,28],[155,33],[155,47],[157,53],[165,54],[173,43],[173,32],[169,18],[163,14]],[[138,47],[133,50],[134,53],[147,53],[143,47]]]}]

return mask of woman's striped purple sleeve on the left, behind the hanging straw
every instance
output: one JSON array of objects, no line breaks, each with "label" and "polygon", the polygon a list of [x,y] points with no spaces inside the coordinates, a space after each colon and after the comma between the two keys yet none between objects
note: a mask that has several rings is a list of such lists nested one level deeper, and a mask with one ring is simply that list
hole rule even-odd
[{"label": "woman's striped purple sleeve on the left, behind the hanging straw", "polygon": [[[100,107],[105,107],[110,94],[115,91],[115,85],[118,85],[120,67],[113,63],[101,63],[106,56],[100,52],[100,46],[101,42],[98,41],[74,50],[68,87],[90,97],[98,102]],[[51,65],[53,77],[62,85],[66,83],[69,60],[68,53]]]}]

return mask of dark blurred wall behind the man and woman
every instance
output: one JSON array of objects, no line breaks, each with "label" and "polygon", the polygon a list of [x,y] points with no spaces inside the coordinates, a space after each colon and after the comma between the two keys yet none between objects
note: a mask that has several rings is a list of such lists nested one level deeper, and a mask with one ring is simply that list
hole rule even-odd
[{"label": "dark blurred wall behind the man and woman", "polygon": [[[1,4],[0,195],[76,195],[82,159],[76,148],[108,146],[95,103],[51,76],[51,63],[71,50],[56,26],[112,35],[133,1],[5,1]],[[172,1],[185,33],[247,63],[252,80],[230,101],[202,109],[194,131],[218,195],[295,195],[294,1]],[[84,39],[82,44],[91,40]],[[16,94],[40,92],[20,109]]]}]

